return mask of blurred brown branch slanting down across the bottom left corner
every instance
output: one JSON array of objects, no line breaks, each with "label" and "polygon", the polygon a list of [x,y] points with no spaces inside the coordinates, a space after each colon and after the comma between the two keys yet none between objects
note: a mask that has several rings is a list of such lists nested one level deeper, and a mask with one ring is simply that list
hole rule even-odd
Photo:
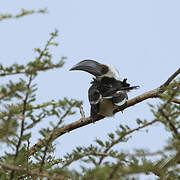
[{"label": "blurred brown branch slanting down across the bottom left corner", "polygon": [[21,172],[23,174],[27,174],[29,176],[46,177],[48,179],[53,179],[53,180],[64,180],[64,178],[60,177],[60,176],[51,176],[46,172],[39,173],[39,172],[36,172],[36,171],[30,171],[30,170],[27,170],[26,168],[23,168],[23,167],[8,165],[8,164],[4,164],[4,163],[1,163],[1,162],[0,162],[0,166],[2,168],[4,168],[4,169],[9,169],[9,170],[12,170],[12,171],[18,171],[18,172]]}]

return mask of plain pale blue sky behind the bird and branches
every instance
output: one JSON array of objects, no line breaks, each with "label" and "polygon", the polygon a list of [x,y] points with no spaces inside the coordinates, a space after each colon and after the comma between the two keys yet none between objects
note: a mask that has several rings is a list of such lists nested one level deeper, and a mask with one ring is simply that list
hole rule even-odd
[{"label": "plain pale blue sky behind the bird and branches", "polygon": [[[68,69],[83,59],[109,63],[122,78],[140,85],[129,93],[134,97],[163,83],[180,65],[180,1],[179,0],[1,0],[0,13],[16,14],[21,8],[47,7],[49,14],[32,15],[18,20],[0,22],[0,62],[27,63],[34,57],[33,49],[43,47],[54,29],[59,30],[59,46],[53,49],[54,61],[67,56],[63,69],[41,73],[38,83],[39,102],[64,96],[83,100],[89,115],[87,90],[91,76]],[[128,108],[115,118],[77,129],[57,139],[61,156],[77,145],[89,145],[96,137],[105,139],[119,124],[135,127],[136,118],[152,119],[147,102]],[[80,115],[67,120],[78,120]],[[46,123],[47,124],[47,123]],[[38,128],[38,127],[37,127]],[[162,148],[167,133],[160,124],[134,133],[120,149],[144,147],[152,151]],[[157,138],[158,137],[158,138]],[[34,137],[35,138],[35,137]]]}]

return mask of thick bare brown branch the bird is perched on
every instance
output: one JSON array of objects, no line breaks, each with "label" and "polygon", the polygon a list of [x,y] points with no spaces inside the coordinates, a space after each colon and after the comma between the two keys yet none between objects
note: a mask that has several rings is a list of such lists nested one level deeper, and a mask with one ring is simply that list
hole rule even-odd
[{"label": "thick bare brown branch the bird is perched on", "polygon": [[[123,106],[118,107],[114,113],[117,113],[119,111],[123,111],[124,109],[131,107],[135,104],[138,104],[146,99],[149,98],[157,98],[158,95],[162,94],[164,91],[166,91],[166,88],[168,87],[168,85],[172,82],[172,80],[178,75],[180,74],[180,68],[174,72],[167,81],[165,81],[161,86],[159,86],[156,89],[153,89],[151,91],[145,92],[139,96],[136,96],[133,99],[130,99],[129,101],[127,101],[126,104],[124,104]],[[99,121],[101,119],[103,119],[104,116],[98,116],[93,122]],[[49,141],[50,138],[52,138],[51,140],[55,140],[58,137],[62,136],[63,134],[66,134],[67,132],[70,132],[74,129],[78,129],[80,127],[83,127],[85,125],[91,124],[92,120],[90,119],[90,117],[87,117],[85,120],[83,118],[80,118],[78,121],[75,121],[71,124],[68,125],[64,125],[61,128],[58,128],[56,130],[56,133],[53,133],[53,137],[50,134],[49,136],[47,136],[44,139],[39,140],[34,146],[32,146],[30,148],[30,155],[33,155],[38,149],[42,148],[44,146],[44,144],[46,144],[46,142]]]}]

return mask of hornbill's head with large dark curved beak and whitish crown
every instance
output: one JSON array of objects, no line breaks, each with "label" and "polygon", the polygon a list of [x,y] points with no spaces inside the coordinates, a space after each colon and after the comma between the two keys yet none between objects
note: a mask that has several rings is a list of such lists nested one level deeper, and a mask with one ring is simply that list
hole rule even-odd
[{"label": "hornbill's head with large dark curved beak and whitish crown", "polygon": [[101,64],[94,60],[83,60],[73,66],[70,71],[72,70],[81,70],[88,72],[95,77],[113,77],[115,79],[119,79],[118,71],[110,65]]}]

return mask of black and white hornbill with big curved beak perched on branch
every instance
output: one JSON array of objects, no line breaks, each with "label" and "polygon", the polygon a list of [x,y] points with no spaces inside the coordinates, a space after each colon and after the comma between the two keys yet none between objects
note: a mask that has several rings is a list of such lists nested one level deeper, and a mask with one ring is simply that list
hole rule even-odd
[{"label": "black and white hornbill with big curved beak perched on branch", "polygon": [[86,71],[95,76],[88,90],[92,121],[98,115],[103,117],[112,116],[114,110],[128,100],[127,92],[139,87],[130,86],[127,79],[121,81],[115,68],[94,60],[83,60],[73,66],[70,71],[72,70]]}]

